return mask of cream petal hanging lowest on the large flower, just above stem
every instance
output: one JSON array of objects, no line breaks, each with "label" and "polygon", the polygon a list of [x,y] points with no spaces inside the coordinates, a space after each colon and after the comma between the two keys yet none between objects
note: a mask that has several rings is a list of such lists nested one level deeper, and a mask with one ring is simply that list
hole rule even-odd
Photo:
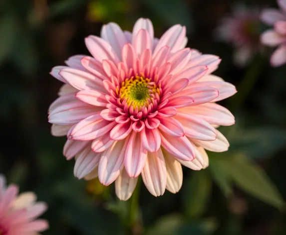
[{"label": "cream petal hanging lowest on the large flower, just above stem", "polygon": [[127,174],[125,169],[123,169],[118,176],[118,178],[115,180],[115,193],[116,196],[123,201],[127,201],[137,184],[137,178],[130,178],[130,176]]}]

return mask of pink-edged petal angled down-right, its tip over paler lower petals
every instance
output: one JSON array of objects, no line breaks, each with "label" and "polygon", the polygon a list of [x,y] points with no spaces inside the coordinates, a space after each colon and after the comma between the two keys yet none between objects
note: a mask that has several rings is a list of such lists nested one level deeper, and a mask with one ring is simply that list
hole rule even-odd
[{"label": "pink-edged petal angled down-right, its tip over paler lower petals", "polygon": [[194,147],[186,136],[174,137],[161,132],[161,145],[176,158],[192,161],[195,158]]}]

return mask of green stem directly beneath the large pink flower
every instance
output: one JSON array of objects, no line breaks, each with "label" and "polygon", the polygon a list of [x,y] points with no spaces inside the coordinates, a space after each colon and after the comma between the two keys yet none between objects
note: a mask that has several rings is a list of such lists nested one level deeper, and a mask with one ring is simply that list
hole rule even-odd
[{"label": "green stem directly beneath the large pink flower", "polygon": [[134,230],[134,227],[138,223],[138,216],[139,216],[139,209],[140,209],[139,208],[140,185],[141,185],[141,180],[138,179],[136,188],[130,199],[129,226],[130,226],[130,230],[132,234],[134,234],[132,231]]}]

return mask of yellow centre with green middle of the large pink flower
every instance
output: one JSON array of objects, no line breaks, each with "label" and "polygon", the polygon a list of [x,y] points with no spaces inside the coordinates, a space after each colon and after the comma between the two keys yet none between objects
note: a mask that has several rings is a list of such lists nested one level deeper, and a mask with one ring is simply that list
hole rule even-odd
[{"label": "yellow centre with green middle of the large pink flower", "polygon": [[121,101],[126,100],[128,107],[133,105],[134,107],[149,105],[153,97],[152,94],[160,95],[159,86],[155,82],[151,82],[150,79],[135,76],[125,79],[121,84],[120,89],[116,89],[116,93]]}]

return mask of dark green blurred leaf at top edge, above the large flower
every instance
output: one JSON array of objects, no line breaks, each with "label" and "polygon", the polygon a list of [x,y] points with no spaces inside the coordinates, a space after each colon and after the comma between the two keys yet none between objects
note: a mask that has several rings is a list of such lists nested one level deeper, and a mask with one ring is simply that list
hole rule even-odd
[{"label": "dark green blurred leaf at top edge, above the large flower", "polygon": [[169,24],[180,23],[190,31],[192,28],[192,19],[190,18],[189,7],[183,0],[145,0],[143,1],[148,8],[156,12]]}]

